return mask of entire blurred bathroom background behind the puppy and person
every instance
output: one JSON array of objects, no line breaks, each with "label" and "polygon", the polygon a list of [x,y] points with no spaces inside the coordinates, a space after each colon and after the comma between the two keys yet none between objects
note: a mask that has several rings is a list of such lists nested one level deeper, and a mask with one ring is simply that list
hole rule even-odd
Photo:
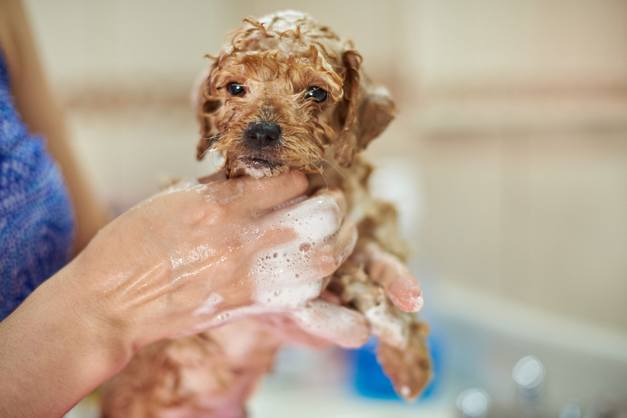
[{"label": "entire blurred bathroom background behind the puppy and person", "polygon": [[308,11],[391,89],[398,117],[366,152],[423,283],[433,387],[383,400],[368,348],[287,349],[253,417],[626,416],[626,1],[25,3],[116,211],[206,169],[191,85],[246,16]]}]

